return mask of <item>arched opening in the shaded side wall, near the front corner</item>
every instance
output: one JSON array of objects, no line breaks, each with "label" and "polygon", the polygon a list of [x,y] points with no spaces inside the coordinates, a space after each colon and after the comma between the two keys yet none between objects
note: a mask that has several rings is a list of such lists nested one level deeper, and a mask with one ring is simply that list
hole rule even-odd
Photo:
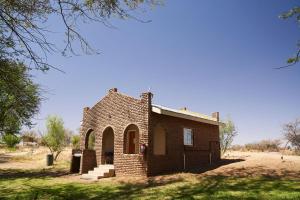
[{"label": "arched opening in the shaded side wall, near the front corner", "polygon": [[154,155],[166,155],[166,131],[161,125],[157,125],[153,135]]}]

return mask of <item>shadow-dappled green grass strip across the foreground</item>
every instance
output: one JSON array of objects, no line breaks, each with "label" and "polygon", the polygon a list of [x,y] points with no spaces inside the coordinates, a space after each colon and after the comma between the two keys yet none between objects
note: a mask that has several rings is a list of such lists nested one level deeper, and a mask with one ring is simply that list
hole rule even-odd
[{"label": "shadow-dappled green grass strip across the foreground", "polygon": [[300,180],[187,174],[163,180],[80,182],[65,172],[0,171],[0,199],[300,199]]}]

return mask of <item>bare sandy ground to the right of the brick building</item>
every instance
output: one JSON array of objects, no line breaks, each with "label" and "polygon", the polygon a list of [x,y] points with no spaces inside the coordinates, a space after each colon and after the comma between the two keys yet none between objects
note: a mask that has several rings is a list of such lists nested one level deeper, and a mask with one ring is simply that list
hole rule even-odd
[{"label": "bare sandy ground to the right of the brick building", "polygon": [[[226,164],[226,160],[229,164]],[[230,162],[232,161],[232,163]],[[227,152],[224,165],[205,174],[300,178],[300,156],[279,152]]]}]

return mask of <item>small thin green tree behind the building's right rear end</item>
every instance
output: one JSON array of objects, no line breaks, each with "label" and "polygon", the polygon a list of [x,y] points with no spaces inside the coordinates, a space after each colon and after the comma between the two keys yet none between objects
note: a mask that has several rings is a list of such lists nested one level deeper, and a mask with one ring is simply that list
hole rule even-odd
[{"label": "small thin green tree behind the building's right rear end", "polygon": [[220,146],[222,154],[231,146],[235,136],[237,136],[236,127],[231,119],[227,119],[224,125],[220,126]]}]

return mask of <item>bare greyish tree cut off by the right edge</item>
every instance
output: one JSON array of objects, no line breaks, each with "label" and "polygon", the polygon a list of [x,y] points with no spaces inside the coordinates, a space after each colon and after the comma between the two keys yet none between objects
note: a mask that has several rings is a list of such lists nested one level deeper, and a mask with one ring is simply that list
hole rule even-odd
[{"label": "bare greyish tree cut off by the right edge", "polygon": [[297,151],[300,151],[300,119],[285,124],[283,126],[283,134],[288,143]]}]

